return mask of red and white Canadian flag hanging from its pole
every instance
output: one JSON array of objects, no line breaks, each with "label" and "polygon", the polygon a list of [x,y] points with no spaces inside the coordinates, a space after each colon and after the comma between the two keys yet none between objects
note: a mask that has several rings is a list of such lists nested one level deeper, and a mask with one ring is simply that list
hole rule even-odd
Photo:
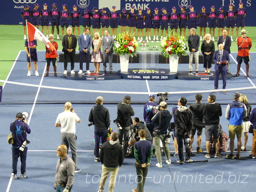
[{"label": "red and white Canadian flag hanging from its pole", "polygon": [[36,28],[34,25],[31,23],[27,22],[27,27],[28,27],[28,40],[29,42],[33,40],[38,40],[41,41],[45,46],[52,52],[56,52],[55,47],[52,45],[52,43],[44,36],[41,31],[39,31],[38,28]]}]

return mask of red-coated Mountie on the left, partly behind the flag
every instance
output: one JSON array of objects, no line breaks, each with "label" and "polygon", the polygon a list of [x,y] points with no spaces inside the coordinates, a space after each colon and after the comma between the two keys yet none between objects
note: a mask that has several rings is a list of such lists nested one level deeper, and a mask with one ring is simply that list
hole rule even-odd
[{"label": "red-coated Mountie on the left, partly behind the flag", "polygon": [[48,49],[48,47],[45,46],[45,49],[46,49],[46,53],[45,53],[45,60],[46,60],[46,63],[47,63],[47,66],[46,66],[46,74],[45,76],[49,76],[49,68],[50,68],[50,63],[52,61],[52,66],[53,66],[53,70],[54,70],[54,76],[57,77],[57,72],[56,72],[56,61],[57,61],[57,50],[58,50],[58,43],[53,41],[54,39],[54,36],[52,34],[49,35],[49,41],[52,43],[52,45],[55,47],[56,49],[56,52],[55,51],[50,51]]}]

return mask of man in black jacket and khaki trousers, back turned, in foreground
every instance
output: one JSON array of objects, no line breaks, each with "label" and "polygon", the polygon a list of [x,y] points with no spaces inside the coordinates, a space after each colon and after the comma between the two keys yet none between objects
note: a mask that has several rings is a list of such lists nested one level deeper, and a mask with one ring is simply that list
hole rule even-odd
[{"label": "man in black jacket and khaki trousers, back turned, in foreground", "polygon": [[102,144],[100,150],[100,162],[102,164],[102,174],[100,178],[99,192],[104,190],[108,173],[110,172],[110,180],[108,191],[113,192],[116,184],[116,175],[119,167],[124,162],[123,147],[116,141],[118,134],[112,132],[109,141]]}]

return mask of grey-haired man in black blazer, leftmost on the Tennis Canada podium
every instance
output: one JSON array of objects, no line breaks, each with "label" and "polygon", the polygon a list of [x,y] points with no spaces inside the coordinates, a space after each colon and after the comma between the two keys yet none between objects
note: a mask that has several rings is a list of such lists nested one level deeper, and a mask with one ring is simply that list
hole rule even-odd
[{"label": "grey-haired man in black blazer, leftmost on the Tennis Canada podium", "polygon": [[76,36],[71,35],[72,28],[67,28],[67,35],[62,37],[62,51],[64,52],[64,74],[67,74],[68,58],[70,57],[71,74],[75,74],[75,53],[76,53]]}]

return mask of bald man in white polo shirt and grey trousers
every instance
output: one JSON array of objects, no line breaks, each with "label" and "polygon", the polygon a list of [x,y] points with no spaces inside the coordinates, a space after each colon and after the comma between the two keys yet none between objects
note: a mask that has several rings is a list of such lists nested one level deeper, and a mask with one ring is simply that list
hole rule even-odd
[{"label": "bald man in white polo shirt and grey trousers", "polygon": [[55,127],[61,127],[61,145],[70,146],[72,160],[75,163],[75,172],[81,171],[77,168],[76,152],[76,122],[80,123],[80,118],[76,115],[70,102],[65,103],[65,111],[60,113],[55,122]]}]

